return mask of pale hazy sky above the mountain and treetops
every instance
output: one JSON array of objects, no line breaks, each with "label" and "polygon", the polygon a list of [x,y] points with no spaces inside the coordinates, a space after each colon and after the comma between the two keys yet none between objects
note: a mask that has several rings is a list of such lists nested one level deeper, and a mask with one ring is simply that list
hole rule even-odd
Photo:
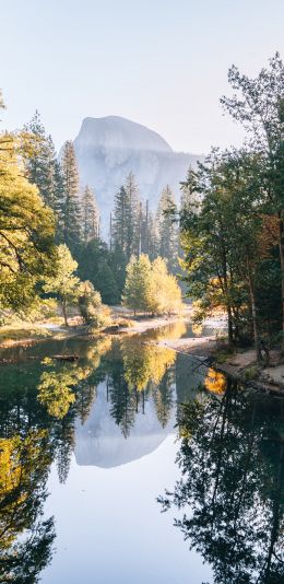
[{"label": "pale hazy sky above the mountain and treetops", "polygon": [[283,0],[0,0],[1,117],[12,129],[37,108],[57,148],[107,115],[175,150],[238,144],[218,103],[228,67],[284,58],[283,26]]}]

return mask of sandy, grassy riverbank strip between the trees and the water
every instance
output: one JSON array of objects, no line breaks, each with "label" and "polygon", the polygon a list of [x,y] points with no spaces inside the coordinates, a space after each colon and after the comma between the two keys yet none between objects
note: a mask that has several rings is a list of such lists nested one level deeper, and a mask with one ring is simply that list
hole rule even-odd
[{"label": "sandy, grassy riverbank strip between the trees and the water", "polygon": [[[78,317],[70,320],[70,327],[64,327],[62,322],[27,324],[20,327],[2,327],[0,329],[0,350],[13,346],[32,346],[45,340],[64,340],[70,338],[95,338],[102,335],[142,335],[150,330],[159,329],[178,322],[190,324],[192,308],[187,306],[181,315],[173,316],[133,316],[129,311],[121,307],[113,308],[113,324],[105,329],[90,332]],[[218,330],[222,335],[225,328],[225,319],[222,315],[209,318],[205,327]],[[176,352],[194,355],[201,362],[208,363],[216,371],[223,372],[237,378],[247,386],[284,396],[284,361],[277,351],[271,351],[270,366],[258,367],[256,351],[229,352],[224,338],[215,335],[200,335],[190,338],[170,339],[164,338],[152,341],[161,347],[167,347]]]}]

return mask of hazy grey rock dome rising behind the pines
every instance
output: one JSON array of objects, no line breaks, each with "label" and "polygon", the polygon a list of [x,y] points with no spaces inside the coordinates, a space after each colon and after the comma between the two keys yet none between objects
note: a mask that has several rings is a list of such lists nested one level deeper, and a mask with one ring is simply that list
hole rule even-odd
[{"label": "hazy grey rock dome rising behind the pines", "polygon": [[114,197],[127,175],[133,172],[141,198],[156,209],[165,185],[179,199],[179,183],[189,165],[202,155],[174,152],[157,132],[118,116],[87,117],[74,140],[81,186],[90,185],[96,194],[103,233],[107,236]]}]

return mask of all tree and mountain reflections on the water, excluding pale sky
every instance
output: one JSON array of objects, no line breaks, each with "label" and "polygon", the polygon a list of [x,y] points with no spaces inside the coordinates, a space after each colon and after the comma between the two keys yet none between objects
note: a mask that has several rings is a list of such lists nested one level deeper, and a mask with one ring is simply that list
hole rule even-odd
[{"label": "all tree and mountain reflections on the water, excluding pale sky", "polygon": [[[176,524],[215,583],[284,581],[284,405],[156,344],[185,335],[177,323],[140,338],[47,342],[1,369],[0,582],[37,582],[51,561],[51,464],[62,484],[72,454],[115,468],[151,454],[177,422],[182,478],[163,507],[185,512]],[[62,353],[79,360],[52,358]]]}]

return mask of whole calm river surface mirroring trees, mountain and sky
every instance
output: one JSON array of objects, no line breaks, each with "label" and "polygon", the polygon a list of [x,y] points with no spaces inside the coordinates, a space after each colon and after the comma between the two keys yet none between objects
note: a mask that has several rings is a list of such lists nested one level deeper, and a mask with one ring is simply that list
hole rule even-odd
[{"label": "whole calm river surface mirroring trees, mountain and sky", "polygon": [[2,351],[1,583],[284,582],[284,401],[153,343],[193,334]]}]

